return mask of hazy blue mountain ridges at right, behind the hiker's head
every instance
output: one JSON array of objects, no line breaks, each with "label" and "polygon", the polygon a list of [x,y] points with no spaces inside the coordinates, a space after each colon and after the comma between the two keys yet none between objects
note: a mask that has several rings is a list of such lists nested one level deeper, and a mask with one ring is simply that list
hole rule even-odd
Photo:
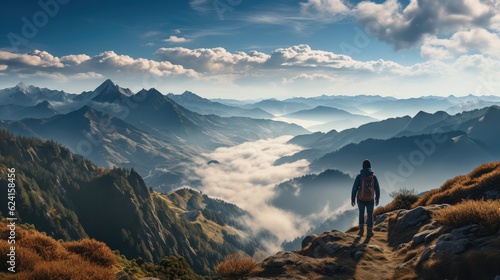
[{"label": "hazy blue mountain ridges at right, behind the hiker's head", "polygon": [[495,127],[499,117],[498,106],[456,115],[421,111],[414,117],[386,119],[341,132],[301,135],[289,143],[308,149],[276,164],[307,159],[311,170],[338,169],[354,176],[360,163],[369,158],[390,188],[424,191],[436,181],[498,159],[500,135]]}]

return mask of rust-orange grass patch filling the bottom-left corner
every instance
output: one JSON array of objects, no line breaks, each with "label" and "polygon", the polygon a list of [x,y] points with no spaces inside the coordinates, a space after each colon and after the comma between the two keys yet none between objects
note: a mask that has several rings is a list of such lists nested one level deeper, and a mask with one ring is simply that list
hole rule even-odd
[{"label": "rust-orange grass patch filling the bottom-left corner", "polygon": [[[0,222],[1,236],[7,228]],[[8,228],[7,228],[8,229]],[[11,244],[0,240],[0,268],[6,271]],[[115,279],[116,256],[102,242],[84,239],[60,243],[36,230],[16,227],[16,279]],[[0,279],[12,275],[0,272]]]}]

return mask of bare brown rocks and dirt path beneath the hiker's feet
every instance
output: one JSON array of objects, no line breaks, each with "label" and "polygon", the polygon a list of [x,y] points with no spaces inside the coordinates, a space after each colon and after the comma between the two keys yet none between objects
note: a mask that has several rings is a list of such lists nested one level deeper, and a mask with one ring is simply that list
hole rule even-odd
[{"label": "bare brown rocks and dirt path beneath the hiker's feet", "polygon": [[446,207],[383,214],[371,238],[356,236],[357,227],[308,236],[301,250],[265,259],[250,279],[500,278],[500,231],[484,235],[478,224],[446,228],[431,218]]}]

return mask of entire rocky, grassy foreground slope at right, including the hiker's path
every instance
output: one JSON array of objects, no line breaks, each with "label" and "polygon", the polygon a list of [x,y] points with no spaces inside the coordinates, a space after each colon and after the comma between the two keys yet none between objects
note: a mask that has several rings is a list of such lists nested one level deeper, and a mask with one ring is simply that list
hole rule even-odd
[{"label": "entire rocky, grassy foreground slope at right, including the hiker's path", "polygon": [[357,227],[313,234],[243,279],[498,279],[499,183],[500,162],[481,165],[411,209],[380,214],[373,237]]}]

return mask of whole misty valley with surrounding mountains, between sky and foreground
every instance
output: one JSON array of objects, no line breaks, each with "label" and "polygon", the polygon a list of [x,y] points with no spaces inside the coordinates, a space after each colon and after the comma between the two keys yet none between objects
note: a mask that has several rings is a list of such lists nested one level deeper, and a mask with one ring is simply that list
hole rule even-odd
[{"label": "whole misty valley with surrounding mountains, between sky and foreground", "polygon": [[382,205],[399,189],[425,193],[500,158],[493,96],[245,103],[106,80],[81,94],[19,84],[0,101],[0,159],[18,166],[23,223],[128,258],[182,256],[201,274],[235,251],[262,260],[348,230],[366,158]]}]

